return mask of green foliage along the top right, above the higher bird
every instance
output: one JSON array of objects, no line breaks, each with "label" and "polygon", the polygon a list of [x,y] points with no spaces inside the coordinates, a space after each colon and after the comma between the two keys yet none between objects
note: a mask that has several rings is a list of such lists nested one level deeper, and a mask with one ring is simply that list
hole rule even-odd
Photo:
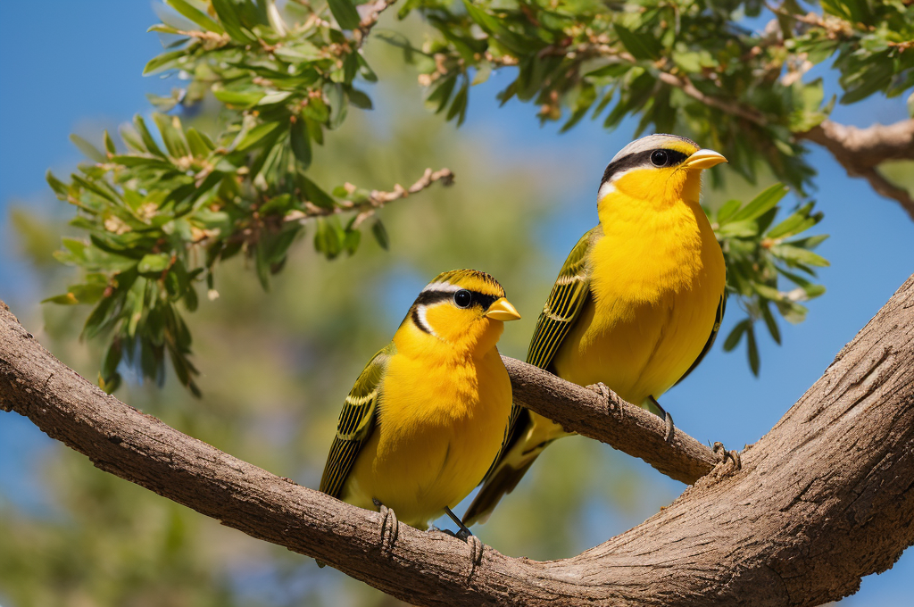
[{"label": "green foliage along the top right, above the higher bird", "polygon": [[834,59],[842,103],[909,91],[914,5],[828,0],[824,16],[796,0],[766,6],[773,18],[755,32],[743,24],[761,15],[759,0],[409,0],[400,16],[419,11],[437,36],[421,48],[388,40],[407,49],[449,120],[462,121],[471,81],[509,68],[499,100],[532,101],[563,131],[588,114],[607,129],[637,117],[636,133],[690,133],[749,181],[763,166],[803,192],[814,173],[792,135],[834,104],[803,74]]}]

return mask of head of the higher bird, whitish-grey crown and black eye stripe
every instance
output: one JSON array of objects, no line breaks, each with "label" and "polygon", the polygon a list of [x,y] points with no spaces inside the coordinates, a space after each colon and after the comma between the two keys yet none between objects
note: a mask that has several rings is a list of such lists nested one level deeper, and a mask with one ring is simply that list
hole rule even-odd
[{"label": "head of the higher bird, whitish-grey crown and black eye stripe", "polygon": [[622,148],[603,173],[598,205],[610,204],[622,193],[653,205],[698,202],[701,171],[727,162],[714,150],[704,150],[685,137],[647,135]]}]

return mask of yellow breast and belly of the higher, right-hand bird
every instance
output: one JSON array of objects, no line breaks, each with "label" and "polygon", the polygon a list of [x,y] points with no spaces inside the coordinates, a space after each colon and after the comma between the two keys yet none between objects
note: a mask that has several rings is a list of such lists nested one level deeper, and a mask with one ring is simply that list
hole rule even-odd
[{"label": "yellow breast and belly of the higher, right-hand bird", "polygon": [[602,381],[643,404],[685,374],[711,335],[725,265],[697,202],[644,204],[621,192],[600,206],[590,300],[554,359],[579,385]]}]

